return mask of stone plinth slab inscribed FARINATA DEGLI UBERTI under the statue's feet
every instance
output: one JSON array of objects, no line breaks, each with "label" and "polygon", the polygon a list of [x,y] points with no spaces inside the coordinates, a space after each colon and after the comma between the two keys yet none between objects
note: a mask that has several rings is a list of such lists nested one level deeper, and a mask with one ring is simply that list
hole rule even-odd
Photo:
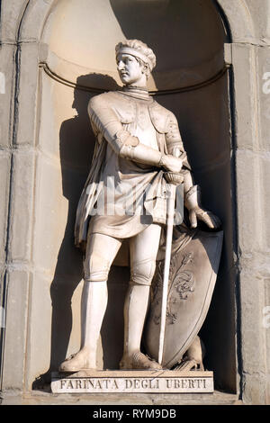
[{"label": "stone plinth slab inscribed FARINATA DEGLI UBERTI under the statue's feet", "polygon": [[54,373],[53,393],[212,393],[212,372],[80,371]]}]

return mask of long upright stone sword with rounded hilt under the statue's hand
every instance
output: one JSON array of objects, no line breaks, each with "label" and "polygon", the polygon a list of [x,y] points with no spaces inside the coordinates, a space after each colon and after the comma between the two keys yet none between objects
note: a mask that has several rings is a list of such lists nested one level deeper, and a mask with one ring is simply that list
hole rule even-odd
[{"label": "long upright stone sword with rounded hilt under the statue's hand", "polygon": [[164,350],[164,338],[165,338],[165,326],[166,326],[166,302],[167,302],[167,291],[168,291],[168,279],[171,262],[172,252],[172,240],[173,240],[173,229],[174,229],[174,218],[175,218],[175,193],[178,184],[182,184],[184,177],[181,174],[175,174],[174,172],[165,173],[166,182],[168,183],[168,202],[167,202],[167,218],[166,218],[166,253],[165,253],[165,264],[163,274],[163,289],[162,289],[162,304],[161,304],[161,317],[160,317],[160,333],[159,333],[159,349],[158,349],[158,363],[161,365],[163,350]]}]

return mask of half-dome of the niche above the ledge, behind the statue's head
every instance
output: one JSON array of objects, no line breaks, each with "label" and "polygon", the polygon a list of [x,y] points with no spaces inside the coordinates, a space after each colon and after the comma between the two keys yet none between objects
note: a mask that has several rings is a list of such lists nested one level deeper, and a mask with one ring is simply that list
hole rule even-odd
[{"label": "half-dome of the niche above the ledge, behind the statue's head", "polygon": [[101,75],[121,85],[114,48],[124,39],[143,40],[156,53],[157,67],[148,81],[153,91],[200,84],[224,65],[224,28],[211,0],[80,0],[80,7],[77,4],[58,0],[42,36],[49,69],[73,84],[78,76],[88,74],[94,87],[99,87]]}]

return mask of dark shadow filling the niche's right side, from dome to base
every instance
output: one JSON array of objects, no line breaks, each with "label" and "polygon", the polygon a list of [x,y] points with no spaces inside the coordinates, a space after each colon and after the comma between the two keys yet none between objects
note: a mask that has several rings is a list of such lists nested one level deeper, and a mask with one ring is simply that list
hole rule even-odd
[{"label": "dark shadow filling the niche's right side, from dome to base", "polygon": [[[157,89],[170,87],[171,77],[175,87],[202,82],[224,66],[223,46],[229,42],[229,31],[214,1],[110,0],[110,4],[125,37],[143,40],[154,50]],[[175,113],[195,183],[202,188],[203,206],[223,223],[220,272],[201,334],[207,347],[206,366],[215,372],[216,388],[235,392],[228,76],[198,91],[157,97],[157,102]]]}]

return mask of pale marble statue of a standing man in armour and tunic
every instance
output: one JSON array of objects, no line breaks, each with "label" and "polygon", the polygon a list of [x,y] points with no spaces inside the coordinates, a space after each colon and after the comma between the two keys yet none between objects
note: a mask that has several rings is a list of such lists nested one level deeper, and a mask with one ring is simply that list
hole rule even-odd
[{"label": "pale marble statue of a standing man in armour and tunic", "polygon": [[[166,225],[164,171],[184,175],[184,206],[192,228],[197,218],[210,228],[219,226],[218,218],[200,206],[175,115],[148,94],[148,76],[156,65],[152,49],[139,40],[122,41],[116,62],[122,90],[96,95],[88,106],[97,142],[76,214],[76,246],[86,242],[82,341],[80,351],[60,365],[62,372],[96,368],[108,273],[123,239],[130,245],[130,285],[120,368],[161,368],[140,352],[140,341]],[[97,207],[101,196],[103,210]]]}]

